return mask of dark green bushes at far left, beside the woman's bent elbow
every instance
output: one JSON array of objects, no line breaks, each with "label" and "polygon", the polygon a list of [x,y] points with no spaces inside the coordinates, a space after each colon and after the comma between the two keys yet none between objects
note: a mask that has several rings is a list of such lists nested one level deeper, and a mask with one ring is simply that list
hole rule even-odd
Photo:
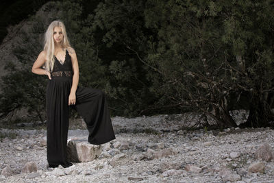
[{"label": "dark green bushes at far left, beside the woman's bent elbow", "polygon": [[40,35],[36,33],[43,29],[45,27],[42,21],[36,19],[34,27],[30,27],[27,32],[21,32],[21,39],[14,43],[13,53],[19,62],[10,61],[5,66],[10,72],[2,77],[0,103],[3,115],[16,108],[27,108],[31,117],[45,121],[46,78],[42,80],[31,72],[33,60],[42,47]]}]

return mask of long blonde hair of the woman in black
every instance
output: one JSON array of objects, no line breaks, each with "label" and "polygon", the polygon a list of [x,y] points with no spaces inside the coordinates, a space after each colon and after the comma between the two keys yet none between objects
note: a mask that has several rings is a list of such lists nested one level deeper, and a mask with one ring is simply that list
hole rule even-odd
[{"label": "long blonde hair of the woman in black", "polygon": [[47,52],[47,61],[45,63],[47,71],[52,71],[54,66],[54,40],[53,40],[53,29],[54,27],[61,27],[62,34],[64,35],[64,38],[61,42],[61,45],[63,48],[71,47],[69,44],[69,39],[66,36],[66,28],[64,27],[64,23],[62,21],[53,21],[47,28],[47,32],[45,33],[45,46],[44,50]]}]

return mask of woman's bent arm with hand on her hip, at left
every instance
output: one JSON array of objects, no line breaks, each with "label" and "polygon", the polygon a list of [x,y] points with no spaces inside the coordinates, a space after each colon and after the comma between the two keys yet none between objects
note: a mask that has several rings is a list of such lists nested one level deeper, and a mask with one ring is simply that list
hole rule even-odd
[{"label": "woman's bent arm with hand on her hip, at left", "polygon": [[38,58],[35,60],[34,65],[32,66],[32,73],[38,74],[38,75],[47,75],[49,77],[49,80],[51,80],[51,73],[47,71],[46,69],[42,69],[42,65],[46,62],[46,51],[41,51]]}]

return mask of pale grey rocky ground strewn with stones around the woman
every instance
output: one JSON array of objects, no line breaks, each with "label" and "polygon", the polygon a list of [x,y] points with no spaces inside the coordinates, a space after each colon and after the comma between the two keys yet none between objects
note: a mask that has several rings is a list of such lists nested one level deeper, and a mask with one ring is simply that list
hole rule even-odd
[{"label": "pale grey rocky ground strewn with stones around the woman", "polygon": [[[186,122],[182,114],[114,117],[116,139],[99,158],[55,169],[45,130],[1,129],[0,182],[274,182],[273,129],[185,131]],[[88,131],[69,130],[73,138]],[[29,162],[37,171],[24,173]]]}]

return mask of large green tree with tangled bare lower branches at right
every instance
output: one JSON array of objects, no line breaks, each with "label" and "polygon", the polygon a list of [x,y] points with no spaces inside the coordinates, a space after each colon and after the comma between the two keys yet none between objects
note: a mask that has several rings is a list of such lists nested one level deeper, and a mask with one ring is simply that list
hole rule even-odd
[{"label": "large green tree with tangled bare lower branches at right", "polygon": [[162,104],[203,112],[223,128],[236,126],[229,110],[246,94],[251,103],[245,126],[269,125],[271,12],[270,1],[148,1],[146,26],[158,31],[159,40],[148,56],[160,71],[152,88],[160,88]]}]

